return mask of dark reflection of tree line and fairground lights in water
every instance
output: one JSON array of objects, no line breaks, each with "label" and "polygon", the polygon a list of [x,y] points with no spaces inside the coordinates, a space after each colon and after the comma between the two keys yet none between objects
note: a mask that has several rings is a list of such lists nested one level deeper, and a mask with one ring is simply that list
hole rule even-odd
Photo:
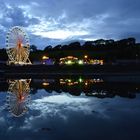
[{"label": "dark reflection of tree line and fairground lights in water", "polygon": [[[44,89],[48,93],[69,93],[74,96],[85,94],[90,97],[112,98],[117,96],[135,98],[136,93],[140,92],[139,83],[114,82],[99,77],[84,76],[60,76],[49,79],[33,79],[31,83],[34,93],[38,89]],[[34,94],[33,93],[33,94]]]}]

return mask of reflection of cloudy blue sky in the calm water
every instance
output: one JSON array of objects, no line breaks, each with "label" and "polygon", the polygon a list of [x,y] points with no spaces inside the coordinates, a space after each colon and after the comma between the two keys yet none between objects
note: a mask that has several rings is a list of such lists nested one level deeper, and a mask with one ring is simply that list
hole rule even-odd
[{"label": "reflection of cloudy blue sky in the calm water", "polygon": [[[136,139],[140,137],[140,95],[135,99],[71,96],[38,90],[29,112],[14,118],[0,93],[0,135],[12,139]],[[33,135],[34,134],[34,135]],[[7,135],[7,136],[6,136]],[[23,136],[23,137],[21,137]],[[138,139],[138,138],[137,138]]]}]

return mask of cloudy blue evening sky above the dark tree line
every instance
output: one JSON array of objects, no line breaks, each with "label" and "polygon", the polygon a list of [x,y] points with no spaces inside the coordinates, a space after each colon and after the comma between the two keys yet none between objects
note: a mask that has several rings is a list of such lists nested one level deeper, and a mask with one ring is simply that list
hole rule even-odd
[{"label": "cloudy blue evening sky above the dark tree line", "polygon": [[41,49],[70,40],[140,42],[139,7],[139,0],[0,0],[0,48],[12,26],[23,26]]}]

